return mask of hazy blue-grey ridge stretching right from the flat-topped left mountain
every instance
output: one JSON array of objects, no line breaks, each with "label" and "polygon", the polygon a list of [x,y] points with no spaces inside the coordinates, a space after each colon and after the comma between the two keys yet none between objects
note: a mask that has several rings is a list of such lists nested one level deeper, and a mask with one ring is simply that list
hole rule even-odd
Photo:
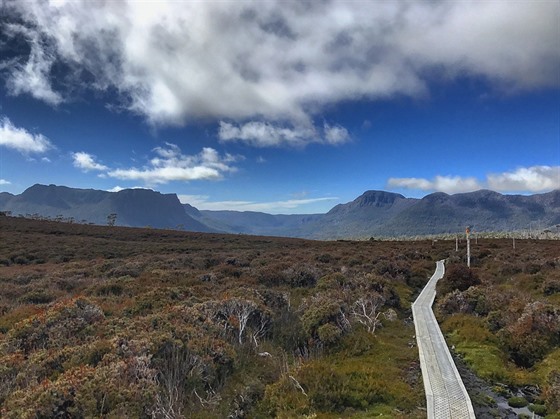
[{"label": "hazy blue-grey ridge stretching right from the flat-topped left mountain", "polygon": [[560,224],[560,190],[529,196],[489,190],[455,195],[435,192],[421,199],[371,190],[326,214],[200,212],[201,222],[230,233],[313,239],[457,233],[467,225],[475,231],[546,229]]}]

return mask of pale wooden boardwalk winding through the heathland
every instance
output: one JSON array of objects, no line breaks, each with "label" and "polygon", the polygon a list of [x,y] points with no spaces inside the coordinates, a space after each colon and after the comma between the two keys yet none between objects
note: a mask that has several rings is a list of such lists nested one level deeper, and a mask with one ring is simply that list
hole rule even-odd
[{"label": "pale wooden boardwalk winding through the heathland", "polygon": [[444,272],[443,261],[437,262],[432,278],[412,304],[428,419],[474,419],[471,399],[432,311],[436,283]]}]

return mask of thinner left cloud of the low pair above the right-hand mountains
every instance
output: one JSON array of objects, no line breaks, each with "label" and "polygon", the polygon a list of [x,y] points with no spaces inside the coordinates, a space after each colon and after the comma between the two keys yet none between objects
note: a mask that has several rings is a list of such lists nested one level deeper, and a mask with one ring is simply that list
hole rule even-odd
[{"label": "thinner left cloud of the low pair above the right-hand mountains", "polygon": [[475,178],[460,176],[436,176],[432,180],[423,178],[390,178],[387,181],[387,185],[396,188],[445,193],[472,192],[482,188]]}]

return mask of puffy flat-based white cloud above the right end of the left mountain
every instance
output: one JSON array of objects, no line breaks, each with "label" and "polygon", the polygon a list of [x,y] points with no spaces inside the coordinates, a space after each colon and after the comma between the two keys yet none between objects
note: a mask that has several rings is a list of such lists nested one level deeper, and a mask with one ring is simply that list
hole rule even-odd
[{"label": "puffy flat-based white cloud above the right end of the left mountain", "polygon": [[234,172],[233,163],[242,159],[231,154],[220,155],[210,147],[204,147],[196,155],[184,155],[180,148],[171,143],[154,149],[156,157],[142,168],[113,169],[109,177],[121,180],[140,180],[147,185],[172,181],[218,180],[224,173]]}]

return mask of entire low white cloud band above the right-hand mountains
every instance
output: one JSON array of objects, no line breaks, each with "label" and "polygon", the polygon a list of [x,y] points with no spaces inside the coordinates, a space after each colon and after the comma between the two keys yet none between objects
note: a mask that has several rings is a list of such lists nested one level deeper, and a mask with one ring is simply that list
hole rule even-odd
[{"label": "entire low white cloud band above the right-hand mountains", "polygon": [[389,187],[439,191],[472,192],[488,188],[497,192],[544,192],[560,189],[560,166],[519,167],[510,172],[491,173],[481,182],[474,177],[436,176],[424,178],[390,178]]}]

